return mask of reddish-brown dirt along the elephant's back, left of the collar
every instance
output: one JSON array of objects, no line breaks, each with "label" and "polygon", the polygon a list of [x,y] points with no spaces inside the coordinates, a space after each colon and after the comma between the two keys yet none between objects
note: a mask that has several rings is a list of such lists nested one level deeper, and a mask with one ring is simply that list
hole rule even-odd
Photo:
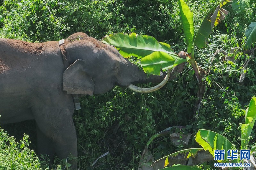
[{"label": "reddish-brown dirt along the elephant's back, left of the collar", "polygon": [[[8,46],[10,46],[12,49],[16,49],[17,51],[21,51],[23,53],[30,53],[30,54],[41,54],[48,44],[50,42],[44,42],[44,43],[31,43],[26,41],[20,41],[20,40],[13,40],[13,39],[4,39]],[[56,42],[55,42],[56,44]]]}]

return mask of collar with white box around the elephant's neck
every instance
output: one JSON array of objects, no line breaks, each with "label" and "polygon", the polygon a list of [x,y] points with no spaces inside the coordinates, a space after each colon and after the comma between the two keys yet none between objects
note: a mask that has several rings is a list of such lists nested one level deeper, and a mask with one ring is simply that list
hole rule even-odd
[{"label": "collar with white box around the elephant's neck", "polygon": [[[64,43],[65,43],[64,39],[59,41],[60,52],[62,54],[62,61],[63,61],[65,69],[67,69],[70,66],[70,63],[68,62],[68,60],[66,58],[67,52],[66,52],[66,49],[64,47]],[[75,95],[75,94],[72,94],[72,97],[73,97],[75,109],[80,110],[81,106],[80,106],[80,102],[79,102],[79,96]]]}]

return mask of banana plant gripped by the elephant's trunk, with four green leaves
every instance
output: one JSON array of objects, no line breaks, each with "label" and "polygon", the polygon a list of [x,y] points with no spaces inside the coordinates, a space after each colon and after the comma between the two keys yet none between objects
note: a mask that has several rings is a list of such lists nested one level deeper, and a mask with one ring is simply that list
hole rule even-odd
[{"label": "banana plant gripped by the elephant's trunk, with four green leaves", "polygon": [[197,81],[200,83],[202,77],[194,57],[195,45],[203,48],[213,27],[217,26],[220,19],[224,19],[228,11],[222,6],[231,0],[222,0],[214,5],[205,16],[196,36],[194,34],[193,12],[183,0],[179,1],[180,18],[188,46],[187,60],[181,59],[173,52],[169,44],[158,42],[154,37],[148,35],[137,35],[136,33],[116,33],[105,36],[103,43],[115,46],[124,57],[135,56],[141,58],[143,70],[149,74],[160,74],[160,70],[170,69],[183,62],[190,62],[195,70]]}]

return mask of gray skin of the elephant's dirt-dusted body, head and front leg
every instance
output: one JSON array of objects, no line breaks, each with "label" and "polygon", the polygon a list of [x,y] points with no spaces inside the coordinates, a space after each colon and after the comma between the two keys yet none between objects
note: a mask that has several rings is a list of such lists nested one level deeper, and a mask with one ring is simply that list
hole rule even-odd
[{"label": "gray skin of the elephant's dirt-dusted body, head and front leg", "polygon": [[[103,94],[115,85],[160,82],[166,74],[147,79],[114,47],[84,33],[68,37],[65,49],[71,64],[68,69],[57,41],[0,39],[0,124],[36,120],[38,154],[52,158],[56,153],[60,159],[70,153],[77,157],[71,93]],[[185,57],[184,52],[179,55]],[[180,64],[173,72],[181,72],[183,67]],[[76,169],[76,162],[71,163]]]}]

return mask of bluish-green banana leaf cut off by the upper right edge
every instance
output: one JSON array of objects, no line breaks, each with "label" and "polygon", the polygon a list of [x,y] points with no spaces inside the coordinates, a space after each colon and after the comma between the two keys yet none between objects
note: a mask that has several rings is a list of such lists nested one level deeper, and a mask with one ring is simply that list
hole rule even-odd
[{"label": "bluish-green banana leaf cut off by the upper right edge", "polygon": [[251,22],[248,29],[245,31],[246,42],[245,49],[250,49],[252,44],[256,42],[256,22]]}]

